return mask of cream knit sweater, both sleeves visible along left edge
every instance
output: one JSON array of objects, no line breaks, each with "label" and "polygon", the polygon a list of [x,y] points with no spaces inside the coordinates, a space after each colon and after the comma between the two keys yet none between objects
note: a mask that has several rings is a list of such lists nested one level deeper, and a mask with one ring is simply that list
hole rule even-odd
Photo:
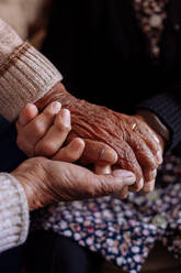
[{"label": "cream knit sweater, both sleeves visible along left edge", "polygon": [[[53,64],[0,20],[0,114],[14,121],[27,102],[38,100],[59,80]],[[25,193],[12,175],[1,173],[0,252],[23,243],[27,230]]]}]

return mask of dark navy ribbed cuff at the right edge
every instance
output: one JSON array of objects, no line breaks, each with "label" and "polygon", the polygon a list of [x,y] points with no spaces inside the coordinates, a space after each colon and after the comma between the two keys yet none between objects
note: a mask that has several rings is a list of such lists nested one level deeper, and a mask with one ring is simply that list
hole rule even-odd
[{"label": "dark navy ribbed cuff at the right edge", "polygon": [[148,100],[143,101],[137,109],[152,111],[170,131],[169,150],[181,142],[181,101],[177,96],[169,92],[161,92]]}]

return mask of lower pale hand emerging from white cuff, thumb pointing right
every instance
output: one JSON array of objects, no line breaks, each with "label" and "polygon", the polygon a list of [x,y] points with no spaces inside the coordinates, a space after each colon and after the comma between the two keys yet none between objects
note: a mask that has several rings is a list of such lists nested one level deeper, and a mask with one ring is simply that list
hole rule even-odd
[{"label": "lower pale hand emerging from white cuff, thumb pointing right", "polygon": [[123,170],[97,175],[84,167],[45,157],[30,159],[11,174],[22,184],[30,210],[50,203],[117,195],[125,185],[135,183],[134,174]]}]

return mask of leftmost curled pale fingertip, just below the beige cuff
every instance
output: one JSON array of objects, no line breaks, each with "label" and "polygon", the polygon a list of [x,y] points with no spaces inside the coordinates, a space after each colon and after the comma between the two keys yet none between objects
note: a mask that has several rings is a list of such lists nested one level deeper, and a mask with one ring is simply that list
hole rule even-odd
[{"label": "leftmost curled pale fingertip, just below the beige cuff", "polygon": [[24,109],[21,110],[18,119],[18,125],[26,125],[38,114],[37,107],[33,103],[27,103]]}]

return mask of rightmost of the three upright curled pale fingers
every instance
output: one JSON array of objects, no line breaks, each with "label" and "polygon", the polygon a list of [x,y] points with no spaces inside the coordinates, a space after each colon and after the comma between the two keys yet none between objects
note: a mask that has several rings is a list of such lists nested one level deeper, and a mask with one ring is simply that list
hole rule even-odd
[{"label": "rightmost of the three upright curled pale fingers", "polygon": [[45,136],[36,143],[35,154],[47,157],[56,154],[71,130],[70,123],[70,111],[61,109]]}]

